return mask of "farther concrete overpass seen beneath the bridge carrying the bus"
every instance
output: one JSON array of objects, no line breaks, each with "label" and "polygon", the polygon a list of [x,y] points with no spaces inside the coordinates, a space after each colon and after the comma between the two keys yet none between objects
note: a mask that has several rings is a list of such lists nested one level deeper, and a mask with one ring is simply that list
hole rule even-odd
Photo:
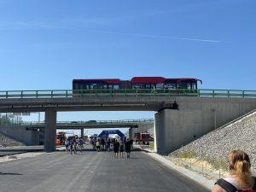
[{"label": "farther concrete overpass seen beneath the bridge carrying the bus", "polygon": [[[84,129],[102,128],[129,128],[128,137],[132,137],[133,131],[154,130],[154,119],[121,119],[121,120],[89,120],[89,121],[57,121],[56,129],[80,130],[84,136]],[[27,145],[44,143],[44,121],[1,122],[0,132]]]}]

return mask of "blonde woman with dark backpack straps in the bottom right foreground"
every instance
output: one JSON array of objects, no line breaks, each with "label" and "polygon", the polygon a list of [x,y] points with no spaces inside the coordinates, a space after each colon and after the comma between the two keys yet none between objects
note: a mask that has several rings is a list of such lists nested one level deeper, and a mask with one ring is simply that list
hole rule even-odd
[{"label": "blonde woman with dark backpack straps in the bottom right foreground", "polygon": [[218,179],[212,192],[235,192],[247,190],[256,192],[255,177],[251,173],[249,156],[241,150],[230,151],[229,154],[230,176]]}]

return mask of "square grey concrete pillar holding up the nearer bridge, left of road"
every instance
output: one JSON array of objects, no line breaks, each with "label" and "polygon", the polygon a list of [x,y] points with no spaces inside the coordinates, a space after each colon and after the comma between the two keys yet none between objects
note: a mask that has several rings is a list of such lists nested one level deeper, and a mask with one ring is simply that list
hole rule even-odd
[{"label": "square grey concrete pillar holding up the nearer bridge, left of road", "polygon": [[45,125],[44,125],[44,151],[53,152],[56,149],[56,111],[49,110],[45,112]]}]

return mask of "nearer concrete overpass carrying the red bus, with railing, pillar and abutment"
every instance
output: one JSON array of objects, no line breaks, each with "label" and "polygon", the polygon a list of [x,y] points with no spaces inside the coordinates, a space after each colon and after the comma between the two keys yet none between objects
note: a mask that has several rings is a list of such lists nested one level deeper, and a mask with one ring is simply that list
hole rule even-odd
[{"label": "nearer concrete overpass carrying the red bus, with railing, pillar and abutment", "polygon": [[45,112],[44,150],[55,150],[59,111],[155,111],[154,146],[168,154],[256,108],[255,90],[20,90],[0,92],[0,113]]}]

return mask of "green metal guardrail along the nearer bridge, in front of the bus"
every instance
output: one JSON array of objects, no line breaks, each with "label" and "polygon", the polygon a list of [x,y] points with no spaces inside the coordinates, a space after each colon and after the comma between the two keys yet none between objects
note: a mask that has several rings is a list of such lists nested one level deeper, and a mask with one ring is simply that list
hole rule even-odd
[{"label": "green metal guardrail along the nearer bridge, in front of the bus", "polygon": [[79,96],[209,96],[256,98],[256,90],[1,90],[0,99],[71,98]]}]

